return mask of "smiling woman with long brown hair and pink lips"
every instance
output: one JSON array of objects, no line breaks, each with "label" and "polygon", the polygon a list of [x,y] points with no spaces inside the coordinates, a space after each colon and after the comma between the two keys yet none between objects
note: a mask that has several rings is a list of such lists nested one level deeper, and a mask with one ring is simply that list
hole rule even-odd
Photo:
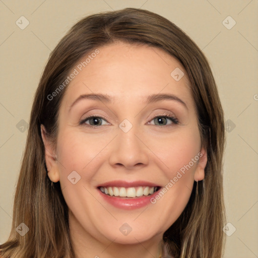
[{"label": "smiling woman with long brown hair and pink lips", "polygon": [[224,143],[208,61],[178,27],[82,19],[37,88],[2,257],[221,257]]}]

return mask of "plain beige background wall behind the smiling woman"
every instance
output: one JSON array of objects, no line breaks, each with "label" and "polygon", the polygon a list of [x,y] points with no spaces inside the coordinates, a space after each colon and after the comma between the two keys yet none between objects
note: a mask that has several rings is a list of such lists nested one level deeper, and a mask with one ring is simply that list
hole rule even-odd
[{"label": "plain beige background wall behind the smiling woman", "polygon": [[[0,1],[0,242],[7,240],[11,228],[26,123],[50,51],[80,18],[125,7],[166,17],[206,54],[225,118],[231,120],[226,133],[224,187],[227,221],[232,225],[226,232],[232,233],[233,226],[236,231],[227,236],[224,257],[258,257],[257,0]],[[21,16],[29,21],[24,30],[16,25]],[[236,22],[231,29],[224,26],[233,25],[231,18],[225,20],[228,16]]]}]

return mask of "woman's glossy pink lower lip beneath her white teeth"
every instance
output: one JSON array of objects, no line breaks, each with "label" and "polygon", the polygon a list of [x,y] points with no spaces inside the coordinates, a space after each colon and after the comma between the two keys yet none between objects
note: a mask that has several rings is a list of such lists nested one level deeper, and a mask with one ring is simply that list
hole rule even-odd
[{"label": "woman's glossy pink lower lip beneath her white teeth", "polygon": [[151,204],[151,199],[155,198],[158,195],[160,189],[155,191],[150,196],[143,196],[137,198],[121,198],[121,197],[114,197],[109,196],[103,193],[101,190],[98,189],[102,198],[109,204],[113,205],[116,208],[123,209],[123,210],[135,210]]}]

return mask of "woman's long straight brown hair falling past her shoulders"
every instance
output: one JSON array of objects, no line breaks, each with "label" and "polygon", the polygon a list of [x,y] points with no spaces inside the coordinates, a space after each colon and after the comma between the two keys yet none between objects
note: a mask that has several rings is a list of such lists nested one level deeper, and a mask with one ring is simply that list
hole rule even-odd
[{"label": "woman's long straight brown hair falling past her shoulders", "polygon": [[[202,144],[207,148],[205,179],[195,182],[187,206],[163,235],[160,257],[221,258],[224,248],[222,164],[225,145],[224,114],[209,63],[200,48],[175,24],[141,9],[126,8],[83,18],[51,52],[39,82],[17,183],[12,230],[0,246],[4,258],[74,258],[68,207],[59,182],[47,176],[40,125],[56,144],[58,110],[64,87],[51,95],[86,54],[114,41],[147,44],[163,49],[184,67],[198,113]],[[21,236],[16,228],[25,223]]]}]

